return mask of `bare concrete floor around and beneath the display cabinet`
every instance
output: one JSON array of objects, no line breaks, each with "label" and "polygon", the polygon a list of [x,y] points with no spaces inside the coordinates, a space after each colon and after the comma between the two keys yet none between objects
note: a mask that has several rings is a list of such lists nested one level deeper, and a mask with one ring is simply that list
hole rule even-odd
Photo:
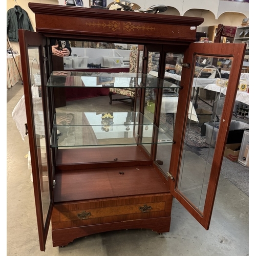
[{"label": "bare concrete floor around and beneath the display cabinet", "polygon": [[75,256],[246,256],[249,255],[249,197],[220,176],[209,230],[174,200],[170,231],[121,230],[76,239],[52,247],[51,227],[46,251],[39,249],[33,183],[27,153],[12,111],[23,96],[20,83],[7,91],[7,255]]}]

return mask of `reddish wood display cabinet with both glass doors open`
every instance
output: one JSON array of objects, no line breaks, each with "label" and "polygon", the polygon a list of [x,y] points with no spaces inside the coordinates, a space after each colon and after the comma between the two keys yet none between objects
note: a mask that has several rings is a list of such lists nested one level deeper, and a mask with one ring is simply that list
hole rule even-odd
[{"label": "reddish wood display cabinet with both glass doors open", "polygon": [[[110,230],[168,232],[174,197],[208,229],[246,46],[195,43],[203,18],[29,7],[36,32],[19,30],[19,44],[40,250],[50,221],[53,246]],[[137,73],[55,70],[51,38],[138,45]],[[166,79],[170,53],[182,60],[178,83]],[[212,160],[189,145],[201,57],[232,63]],[[89,87],[134,91],[134,110],[108,96],[55,106],[56,88]]]}]

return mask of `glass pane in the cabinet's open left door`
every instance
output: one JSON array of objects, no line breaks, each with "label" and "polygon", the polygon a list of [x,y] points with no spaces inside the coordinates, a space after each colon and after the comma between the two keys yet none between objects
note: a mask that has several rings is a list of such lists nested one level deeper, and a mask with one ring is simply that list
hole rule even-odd
[{"label": "glass pane in the cabinet's open left door", "polygon": [[41,199],[42,199],[42,214],[44,222],[46,221],[49,206],[49,181],[48,181],[48,163],[46,156],[46,140],[45,140],[45,123],[44,113],[42,108],[42,94],[41,94],[41,74],[39,49],[29,48],[28,55],[30,60],[30,74],[31,74],[31,92],[32,92],[32,108],[34,113],[35,137],[37,148],[37,170],[40,179]]}]

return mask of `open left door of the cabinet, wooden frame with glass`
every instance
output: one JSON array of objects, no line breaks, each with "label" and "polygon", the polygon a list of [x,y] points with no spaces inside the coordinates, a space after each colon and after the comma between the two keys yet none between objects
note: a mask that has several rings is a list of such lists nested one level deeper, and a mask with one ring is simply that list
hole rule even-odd
[{"label": "open left door of the cabinet, wooden frame with glass", "polygon": [[[46,37],[36,32],[19,30],[27,131],[31,155],[35,208],[40,250],[45,251],[53,208],[53,177],[49,147],[49,124],[46,97],[47,48]],[[47,139],[48,138],[48,139]]]}]

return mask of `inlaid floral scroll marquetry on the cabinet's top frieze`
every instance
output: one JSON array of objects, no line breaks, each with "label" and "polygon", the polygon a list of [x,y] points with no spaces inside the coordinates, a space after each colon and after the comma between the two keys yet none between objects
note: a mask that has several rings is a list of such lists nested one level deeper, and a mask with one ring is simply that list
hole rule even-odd
[{"label": "inlaid floral scroll marquetry on the cabinet's top frieze", "polygon": [[87,22],[85,23],[87,26],[90,26],[90,27],[97,27],[97,28],[108,28],[108,29],[111,29],[113,31],[116,31],[116,30],[126,30],[128,32],[130,31],[154,31],[156,30],[156,28],[154,26],[141,26],[141,25],[136,25],[135,23],[132,23],[132,22],[126,22],[126,23],[120,23],[120,22],[116,22],[115,20],[113,20],[112,22],[109,22],[109,23],[105,23],[105,22]]}]

